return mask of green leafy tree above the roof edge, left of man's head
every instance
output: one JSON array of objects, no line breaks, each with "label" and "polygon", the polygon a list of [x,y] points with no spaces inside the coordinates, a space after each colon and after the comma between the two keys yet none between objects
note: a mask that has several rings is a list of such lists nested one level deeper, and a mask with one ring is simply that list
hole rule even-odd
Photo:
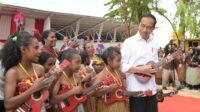
[{"label": "green leafy tree above the roof edge, left of man's head", "polygon": [[112,18],[125,24],[126,37],[130,36],[131,25],[138,24],[142,14],[150,12],[150,4],[154,0],[110,0],[106,18]]}]

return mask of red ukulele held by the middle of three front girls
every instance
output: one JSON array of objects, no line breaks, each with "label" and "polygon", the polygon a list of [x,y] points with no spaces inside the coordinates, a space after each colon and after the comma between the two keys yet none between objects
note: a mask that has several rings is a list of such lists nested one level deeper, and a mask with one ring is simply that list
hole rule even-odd
[{"label": "red ukulele held by the middle of three front girls", "polygon": [[[58,108],[62,112],[71,112],[73,111],[79,104],[85,102],[88,99],[87,94],[93,90],[97,90],[98,88],[102,87],[103,85],[109,85],[113,83],[112,77],[106,78],[104,81],[97,83],[94,86],[90,86],[89,88],[84,89],[80,94],[76,94],[70,96],[69,98],[65,99],[64,101],[58,104]],[[68,89],[67,89],[68,90]],[[63,94],[67,92],[67,90],[62,90],[59,94]]]}]

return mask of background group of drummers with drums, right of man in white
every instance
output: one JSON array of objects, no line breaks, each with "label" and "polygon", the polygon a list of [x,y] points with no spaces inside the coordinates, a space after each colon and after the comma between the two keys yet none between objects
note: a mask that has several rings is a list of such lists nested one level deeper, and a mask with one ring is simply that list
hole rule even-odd
[{"label": "background group of drummers with drums, right of man in white", "polygon": [[[167,89],[169,82],[172,82],[173,86],[177,89],[181,89],[185,86],[191,89],[199,89],[200,47],[190,47],[189,50],[185,52],[171,40],[164,49],[159,49],[159,59],[162,60],[166,55],[175,52],[177,49],[180,49],[182,54],[171,63],[165,64],[160,74],[162,75],[163,89]],[[169,79],[170,76],[171,80]]]}]

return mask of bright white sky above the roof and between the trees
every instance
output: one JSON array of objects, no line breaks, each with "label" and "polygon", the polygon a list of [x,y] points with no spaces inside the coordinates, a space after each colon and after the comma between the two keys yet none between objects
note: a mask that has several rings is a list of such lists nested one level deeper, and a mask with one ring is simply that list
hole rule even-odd
[{"label": "bright white sky above the roof and between the trees", "polygon": [[[104,6],[108,0],[0,0],[1,3],[24,6],[29,8],[81,14],[89,16],[103,17],[109,10]],[[160,7],[167,9],[167,15],[173,19],[176,10],[174,0],[161,0]],[[153,13],[157,18],[157,29],[153,34],[159,43],[159,47],[164,47],[172,36],[172,28],[163,17]]]}]

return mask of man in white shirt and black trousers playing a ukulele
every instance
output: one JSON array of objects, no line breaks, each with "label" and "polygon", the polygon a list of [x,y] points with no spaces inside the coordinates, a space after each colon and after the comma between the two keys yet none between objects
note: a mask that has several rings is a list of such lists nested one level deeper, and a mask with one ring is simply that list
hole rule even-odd
[{"label": "man in white shirt and black trousers playing a ukulele", "polygon": [[[151,33],[156,25],[156,18],[152,14],[145,14],[140,18],[138,32],[134,36],[126,39],[121,48],[122,66],[126,73],[127,90],[132,92],[150,90],[152,95],[141,97],[130,97],[130,112],[157,112],[156,82],[152,75],[149,81],[142,83],[135,73],[150,75],[157,72],[150,65],[145,65],[149,61],[158,61],[157,42]],[[137,67],[138,65],[143,65]]]}]

